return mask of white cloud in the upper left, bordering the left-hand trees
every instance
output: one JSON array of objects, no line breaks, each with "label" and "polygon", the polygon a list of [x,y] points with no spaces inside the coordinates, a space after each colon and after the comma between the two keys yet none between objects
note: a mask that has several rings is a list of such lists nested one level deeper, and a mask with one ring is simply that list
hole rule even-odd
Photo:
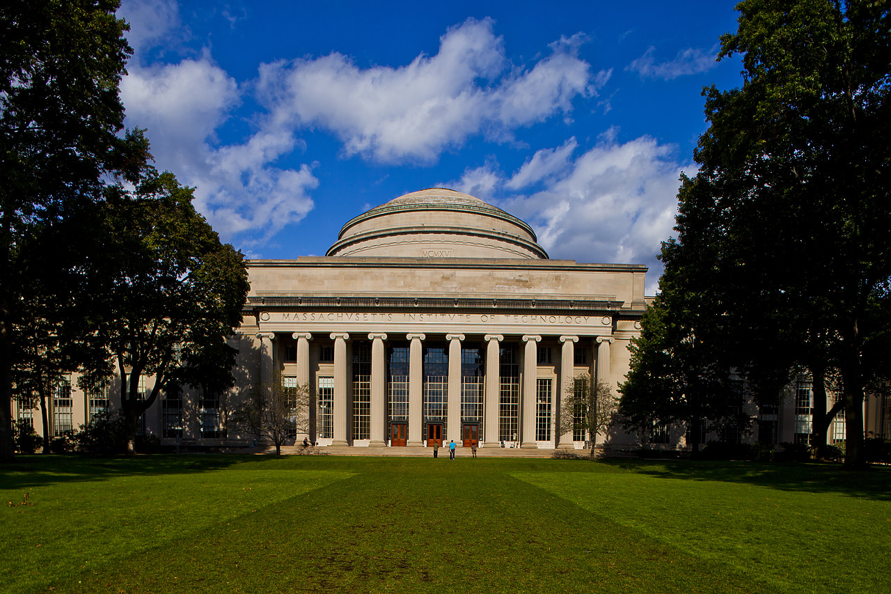
[{"label": "white cloud in the upper left, bordering the left-hand trees", "polygon": [[[128,20],[141,23],[137,42],[131,41],[135,47],[163,37],[176,14],[176,4],[146,5],[121,8]],[[217,142],[217,129],[241,103],[241,89],[207,50],[198,59],[160,66],[143,66],[140,57],[137,52],[121,81],[127,126],[148,128],[159,169],[173,170],[184,185],[196,186],[195,207],[225,240],[238,236],[241,245],[257,245],[312,210],[309,191],[318,180],[311,169],[272,164],[300,144],[290,129],[266,122],[242,143]]]}]

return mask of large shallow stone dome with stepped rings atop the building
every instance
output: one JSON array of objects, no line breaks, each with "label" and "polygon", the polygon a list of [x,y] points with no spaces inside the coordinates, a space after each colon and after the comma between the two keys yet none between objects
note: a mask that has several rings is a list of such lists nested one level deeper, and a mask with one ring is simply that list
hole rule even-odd
[{"label": "large shallow stone dome with stepped rings atop the building", "polygon": [[329,256],[546,259],[532,227],[469,194],[433,187],[347,221]]}]

